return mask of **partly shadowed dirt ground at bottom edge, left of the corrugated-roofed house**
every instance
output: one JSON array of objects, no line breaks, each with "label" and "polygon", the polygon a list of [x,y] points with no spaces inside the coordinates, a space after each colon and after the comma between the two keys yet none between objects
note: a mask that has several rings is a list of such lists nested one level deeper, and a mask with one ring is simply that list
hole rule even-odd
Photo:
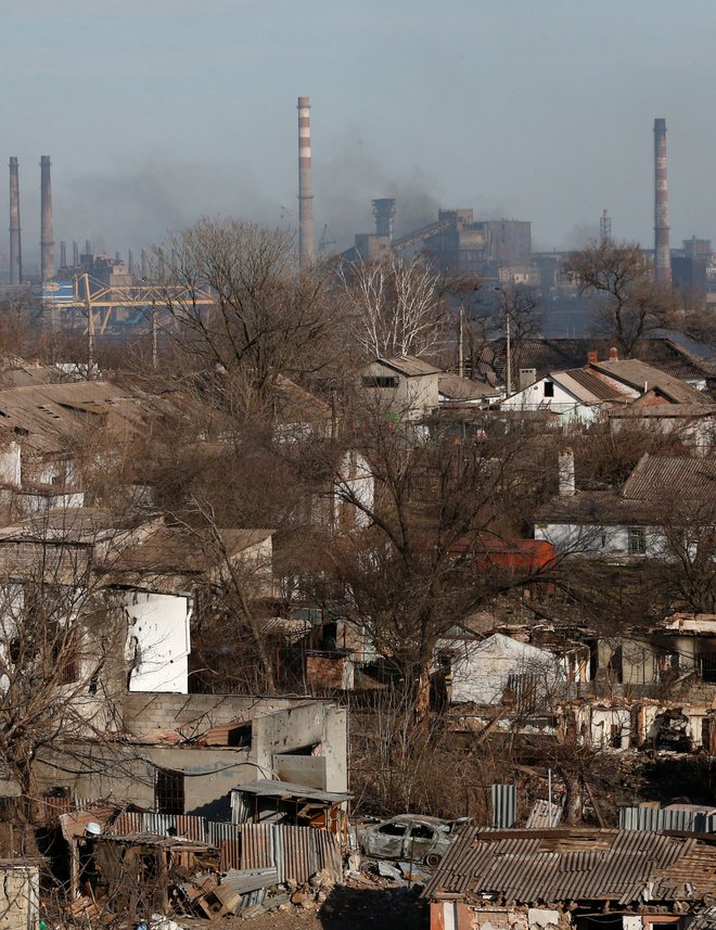
[{"label": "partly shadowed dirt ground at bottom edge, left of the corrugated-roofed house", "polygon": [[427,927],[427,908],[417,893],[402,888],[358,889],[341,886],[331,892],[318,909],[290,906],[251,920],[231,917],[223,920],[178,919],[187,930],[422,930]]}]

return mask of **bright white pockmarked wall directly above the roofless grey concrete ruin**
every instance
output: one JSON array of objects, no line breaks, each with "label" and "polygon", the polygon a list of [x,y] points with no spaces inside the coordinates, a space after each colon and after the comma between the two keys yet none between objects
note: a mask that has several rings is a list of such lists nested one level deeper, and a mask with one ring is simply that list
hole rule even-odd
[{"label": "bright white pockmarked wall directly above the roofless grey concrete ruin", "polygon": [[191,599],[183,596],[126,591],[127,660],[135,662],[130,691],[189,690]]}]

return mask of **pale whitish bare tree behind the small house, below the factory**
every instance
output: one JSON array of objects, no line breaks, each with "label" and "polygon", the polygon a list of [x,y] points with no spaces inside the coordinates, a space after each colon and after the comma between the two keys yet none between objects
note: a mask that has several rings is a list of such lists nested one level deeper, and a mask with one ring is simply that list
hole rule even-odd
[{"label": "pale whitish bare tree behind the small house, below the factory", "polygon": [[442,332],[440,278],[422,257],[345,263],[338,278],[353,337],[368,357],[430,352]]}]

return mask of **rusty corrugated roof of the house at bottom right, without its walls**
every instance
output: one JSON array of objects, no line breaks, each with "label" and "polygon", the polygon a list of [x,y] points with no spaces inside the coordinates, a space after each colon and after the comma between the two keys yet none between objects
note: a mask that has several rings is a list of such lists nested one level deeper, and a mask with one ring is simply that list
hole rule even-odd
[{"label": "rusty corrugated roof of the house at bottom right, without its walls", "polygon": [[[686,887],[690,884],[690,890]],[[716,842],[619,830],[463,830],[423,896],[521,904],[700,900],[716,892]]]}]

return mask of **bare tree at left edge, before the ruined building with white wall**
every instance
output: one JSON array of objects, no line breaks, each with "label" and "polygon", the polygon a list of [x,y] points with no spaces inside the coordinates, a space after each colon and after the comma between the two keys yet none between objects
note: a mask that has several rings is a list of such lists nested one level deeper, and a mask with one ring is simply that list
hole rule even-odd
[{"label": "bare tree at left edge, before the ruined building with white wall", "polygon": [[103,573],[114,534],[50,512],[0,544],[0,754],[33,823],[35,763],[63,740],[106,735],[125,687],[126,629]]}]

